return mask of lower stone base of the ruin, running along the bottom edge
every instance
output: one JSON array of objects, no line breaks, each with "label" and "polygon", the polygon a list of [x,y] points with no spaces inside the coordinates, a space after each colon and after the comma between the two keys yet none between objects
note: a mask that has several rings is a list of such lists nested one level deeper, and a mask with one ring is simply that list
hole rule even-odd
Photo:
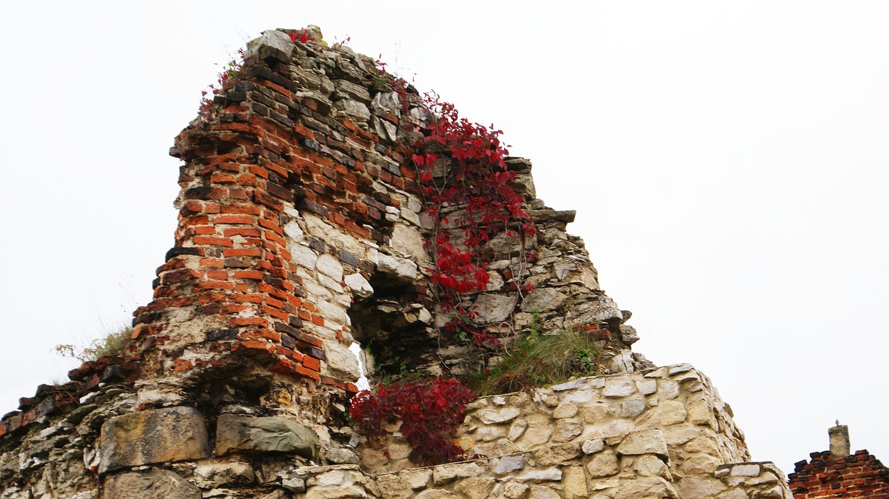
[{"label": "lower stone base of the ruin, running along the bottom edge", "polygon": [[459,442],[484,456],[426,468],[397,436],[372,448],[339,416],[311,421],[309,400],[281,386],[270,380],[258,404],[204,408],[101,385],[0,440],[0,497],[791,498],[772,463],[748,463],[730,409],[688,365],[476,400]]}]

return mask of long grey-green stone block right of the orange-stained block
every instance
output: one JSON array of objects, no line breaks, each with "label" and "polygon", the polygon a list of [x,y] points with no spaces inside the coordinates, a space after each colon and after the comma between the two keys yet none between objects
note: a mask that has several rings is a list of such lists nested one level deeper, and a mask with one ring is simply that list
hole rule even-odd
[{"label": "long grey-green stone block right of the orange-stained block", "polygon": [[309,459],[321,441],[308,426],[284,417],[223,414],[216,420],[216,455],[234,452],[283,452]]}]

